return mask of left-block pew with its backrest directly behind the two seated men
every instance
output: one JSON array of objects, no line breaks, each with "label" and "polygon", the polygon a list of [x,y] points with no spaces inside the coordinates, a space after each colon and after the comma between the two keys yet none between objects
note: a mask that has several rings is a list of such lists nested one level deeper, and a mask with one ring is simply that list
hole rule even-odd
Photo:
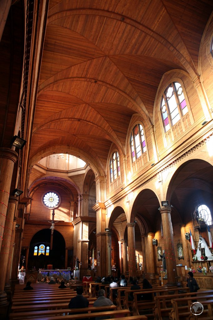
[{"label": "left-block pew with its backrest directly behind the two seated men", "polygon": [[[93,307],[90,306],[88,308],[82,308],[85,312],[96,312],[96,311],[105,311],[106,310],[106,306],[103,307]],[[81,310],[82,310],[81,309]],[[110,310],[115,310],[116,306],[107,306],[107,309]],[[59,316],[59,315],[63,315],[63,313],[68,314],[69,312],[79,312],[78,308],[75,309],[51,309],[51,310],[39,310],[39,311],[23,311],[23,312],[15,312],[15,313],[11,313],[10,314],[10,320],[18,320],[18,319],[31,319],[34,317],[41,317],[41,316]]]}]

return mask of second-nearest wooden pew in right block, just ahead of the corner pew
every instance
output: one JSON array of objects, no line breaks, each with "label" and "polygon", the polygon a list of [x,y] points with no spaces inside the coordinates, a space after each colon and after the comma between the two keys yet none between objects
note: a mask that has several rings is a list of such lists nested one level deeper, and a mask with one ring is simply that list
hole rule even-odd
[{"label": "second-nearest wooden pew in right block, just ahead of the corner pew", "polygon": [[[163,320],[164,317],[169,317],[169,314],[172,309],[171,299],[199,296],[199,295],[208,294],[208,293],[212,292],[212,290],[204,291],[204,292],[203,291],[186,292],[185,289],[189,289],[189,288],[183,288],[183,290],[185,292],[178,293],[178,296],[177,296],[177,294],[176,295],[169,294],[169,295],[156,296],[155,297],[155,307],[153,309],[155,319]],[[183,306],[182,308],[180,307],[180,309],[181,309],[181,311],[183,311],[184,309],[186,309],[186,306]]]}]

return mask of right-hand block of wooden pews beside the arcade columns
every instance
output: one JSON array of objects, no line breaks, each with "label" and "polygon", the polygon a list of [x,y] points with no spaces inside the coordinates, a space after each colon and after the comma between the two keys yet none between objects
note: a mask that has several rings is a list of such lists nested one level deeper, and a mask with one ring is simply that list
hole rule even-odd
[{"label": "right-hand block of wooden pews beside the arcade columns", "polygon": [[[90,282],[84,284],[85,294],[95,297],[98,289],[105,289],[105,296],[117,305],[117,310],[127,309],[131,311],[131,315],[146,315],[148,319],[156,320],[213,320],[213,290],[202,291],[196,293],[189,292],[189,288],[179,288],[171,286],[153,285],[153,289],[132,291],[128,284],[127,287],[110,288],[109,285],[97,284]],[[117,297],[113,295],[113,291],[117,291]],[[133,292],[133,301],[129,301],[129,294]],[[152,300],[140,300],[138,297],[147,293],[152,294]],[[193,315],[190,307],[193,302],[202,303],[204,310],[201,315]]]}]

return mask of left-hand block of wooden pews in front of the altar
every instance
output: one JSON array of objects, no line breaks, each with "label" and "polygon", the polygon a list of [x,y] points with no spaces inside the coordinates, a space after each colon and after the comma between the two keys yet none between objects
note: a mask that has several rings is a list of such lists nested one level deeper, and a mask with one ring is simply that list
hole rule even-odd
[{"label": "left-hand block of wooden pews in front of the altar", "polygon": [[80,309],[69,309],[68,304],[76,292],[70,287],[59,289],[57,284],[33,284],[34,290],[23,290],[25,285],[16,285],[10,320],[59,320],[59,319],[95,319],[95,317],[111,317],[111,319],[147,320],[144,315],[131,315],[128,309],[117,310],[117,306],[93,307],[96,297],[84,293],[89,300],[89,307],[82,308],[81,314],[69,315],[69,312],[79,312]]}]

